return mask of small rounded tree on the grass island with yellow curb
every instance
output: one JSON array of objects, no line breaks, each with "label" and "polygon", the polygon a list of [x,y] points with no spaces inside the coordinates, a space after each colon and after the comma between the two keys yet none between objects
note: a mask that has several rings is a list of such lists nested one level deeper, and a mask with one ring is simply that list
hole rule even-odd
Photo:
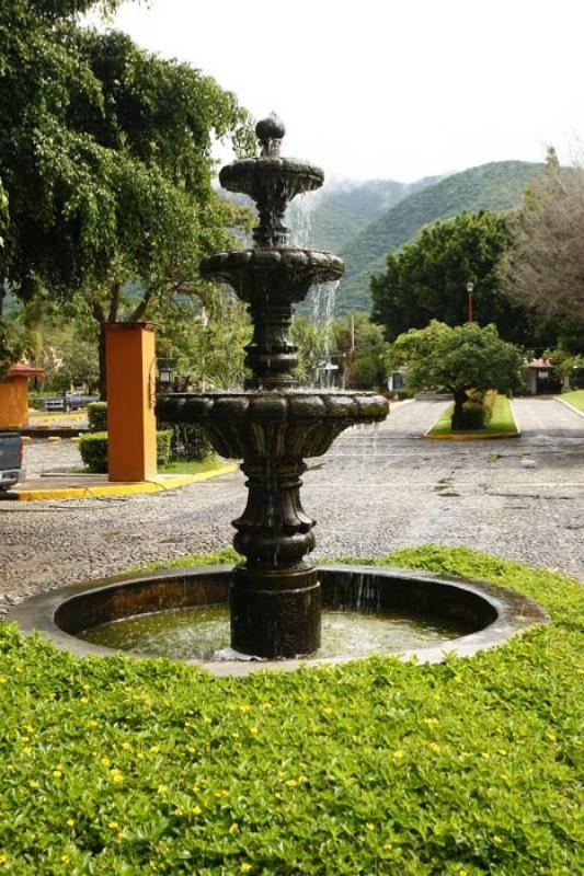
[{"label": "small rounded tree on the grass island with yellow curb", "polygon": [[425,328],[411,328],[396,339],[390,364],[408,368],[408,385],[414,392],[431,388],[451,392],[453,429],[460,429],[469,392],[518,389],[523,358],[513,344],[499,337],[494,325],[481,327],[472,322],[453,328],[433,320]]}]

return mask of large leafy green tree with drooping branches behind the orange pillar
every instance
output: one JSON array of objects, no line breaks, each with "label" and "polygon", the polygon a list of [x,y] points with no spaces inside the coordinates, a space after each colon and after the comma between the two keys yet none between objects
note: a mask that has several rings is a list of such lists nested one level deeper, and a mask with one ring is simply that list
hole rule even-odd
[{"label": "large leafy green tree with drooping branches behind the orange pillar", "polygon": [[[118,33],[82,30],[95,3],[0,11],[0,176],[10,223],[0,286],[78,293],[103,326],[158,297],[197,291],[196,266],[228,241],[236,208],[211,187],[214,138],[247,142],[234,95]],[[112,9],[115,3],[105,3]],[[124,309],[124,287],[141,297]],[[103,333],[101,333],[103,372]]]}]

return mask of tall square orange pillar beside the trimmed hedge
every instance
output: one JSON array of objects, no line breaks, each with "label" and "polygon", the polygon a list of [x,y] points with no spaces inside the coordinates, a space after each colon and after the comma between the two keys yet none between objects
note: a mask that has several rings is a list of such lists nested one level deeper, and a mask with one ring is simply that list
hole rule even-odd
[{"label": "tall square orange pillar beside the trimmed hedge", "polygon": [[108,323],[105,334],[110,481],[157,474],[154,326]]}]

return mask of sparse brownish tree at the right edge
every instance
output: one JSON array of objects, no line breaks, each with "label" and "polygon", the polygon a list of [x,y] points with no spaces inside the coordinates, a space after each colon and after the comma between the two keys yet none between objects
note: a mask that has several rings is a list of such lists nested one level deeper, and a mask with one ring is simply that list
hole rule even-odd
[{"label": "sparse brownish tree at the right edge", "polygon": [[560,168],[550,149],[542,178],[512,218],[511,234],[502,268],[509,299],[559,318],[560,333],[577,326],[584,351],[584,168]]}]

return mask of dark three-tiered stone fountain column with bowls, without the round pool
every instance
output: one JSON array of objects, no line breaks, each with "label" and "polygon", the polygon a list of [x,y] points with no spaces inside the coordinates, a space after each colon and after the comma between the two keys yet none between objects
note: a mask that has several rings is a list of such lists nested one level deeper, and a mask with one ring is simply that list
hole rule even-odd
[{"label": "dark three-tiered stone fountain column with bowls, without the round pool", "polygon": [[233,521],[233,544],[245,562],[233,570],[231,646],[260,657],[306,655],[320,645],[320,584],[308,558],[314,520],[300,503],[305,459],[325,453],[350,426],[385,419],[389,410],[374,393],[296,389],[296,348],[286,336],[293,306],[313,284],[337,280],[344,267],[330,253],[288,245],[288,203],[321,186],[324,174],[279,154],[284,132],[275,115],[260,122],[260,157],[236,161],[219,175],[225,188],[255,201],[255,245],[213,255],[201,268],[248,304],[253,338],[245,348],[245,389],[175,393],[158,405],[164,420],[199,424],[218,453],[243,460],[249,497]]}]

